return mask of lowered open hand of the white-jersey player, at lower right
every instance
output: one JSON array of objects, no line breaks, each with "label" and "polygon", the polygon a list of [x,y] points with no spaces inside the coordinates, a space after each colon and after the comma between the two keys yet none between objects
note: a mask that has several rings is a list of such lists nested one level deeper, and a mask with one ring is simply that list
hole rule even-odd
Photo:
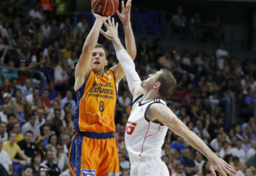
[{"label": "lowered open hand of the white-jersey player, at lower right", "polygon": [[216,176],[215,171],[218,171],[223,176],[235,176],[235,170],[232,166],[227,164],[223,159],[219,157],[214,157],[214,159],[209,160],[210,162],[210,171],[213,174],[213,176]]}]

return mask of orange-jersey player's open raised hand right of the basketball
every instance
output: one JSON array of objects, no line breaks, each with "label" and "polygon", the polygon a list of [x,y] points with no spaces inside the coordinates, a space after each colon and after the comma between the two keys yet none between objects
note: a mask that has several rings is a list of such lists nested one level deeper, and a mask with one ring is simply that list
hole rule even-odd
[{"label": "orange-jersey player's open raised hand right of the basketball", "polygon": [[122,1],[122,11],[121,13],[119,10],[116,11],[116,14],[118,14],[118,17],[123,24],[129,24],[131,19],[131,0],[128,0],[126,2]]}]

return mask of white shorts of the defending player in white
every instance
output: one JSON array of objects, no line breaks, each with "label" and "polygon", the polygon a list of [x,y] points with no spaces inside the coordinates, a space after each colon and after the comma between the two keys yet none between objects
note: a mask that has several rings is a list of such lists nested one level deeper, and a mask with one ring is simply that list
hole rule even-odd
[{"label": "white shorts of the defending player in white", "polygon": [[160,157],[150,157],[132,163],[130,176],[170,176],[170,173]]}]

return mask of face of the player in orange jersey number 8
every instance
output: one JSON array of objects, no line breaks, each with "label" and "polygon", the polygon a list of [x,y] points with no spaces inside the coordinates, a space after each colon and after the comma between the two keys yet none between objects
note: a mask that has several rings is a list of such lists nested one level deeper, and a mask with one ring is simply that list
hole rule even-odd
[{"label": "face of the player in orange jersey number 8", "polygon": [[94,72],[104,71],[107,66],[106,53],[103,48],[94,48],[92,52],[91,67]]}]

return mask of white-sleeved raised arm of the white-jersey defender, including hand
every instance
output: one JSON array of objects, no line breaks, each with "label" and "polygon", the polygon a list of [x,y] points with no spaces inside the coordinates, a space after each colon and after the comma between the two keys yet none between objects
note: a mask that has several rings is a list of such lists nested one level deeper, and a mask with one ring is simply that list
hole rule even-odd
[{"label": "white-sleeved raised arm of the white-jersey defender, including hand", "polygon": [[125,72],[128,86],[134,99],[143,93],[143,89],[140,86],[140,77],[135,71],[135,64],[133,63],[133,60],[126,52],[120,39],[118,38],[118,23],[115,25],[114,18],[112,18],[111,21],[109,17],[108,23],[104,21],[104,25],[107,28],[107,32],[104,32],[102,29],[100,29],[100,33],[102,33],[107,39],[113,42],[119,64],[122,67],[122,70]]}]

